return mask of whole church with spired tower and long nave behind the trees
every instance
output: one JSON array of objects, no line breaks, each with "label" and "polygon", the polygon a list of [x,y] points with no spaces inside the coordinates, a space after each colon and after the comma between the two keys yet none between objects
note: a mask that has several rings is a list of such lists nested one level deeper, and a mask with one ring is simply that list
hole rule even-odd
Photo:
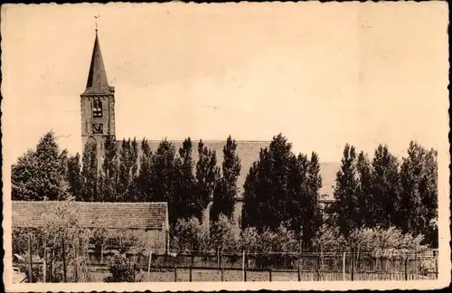
[{"label": "whole church with spired tower and long nave behind the trees", "polygon": [[[119,98],[120,99],[120,98]],[[94,48],[89,65],[88,81],[86,89],[80,95],[81,110],[81,138],[83,147],[87,143],[94,143],[97,146],[98,163],[101,165],[104,156],[104,143],[108,137],[116,139],[115,125],[115,88],[108,84],[107,72],[102,60],[100,52],[98,30],[96,29],[96,37]],[[181,147],[183,141],[171,141],[174,147]],[[194,140],[193,140],[194,141]],[[122,140],[117,140],[118,144]],[[217,164],[222,162],[222,149],[225,141],[209,141],[202,139],[205,147],[214,150],[217,154]],[[158,147],[160,141],[149,141],[153,151]],[[242,189],[245,178],[250,170],[250,166],[258,160],[259,151],[263,147],[268,147],[269,141],[236,141],[237,154],[240,157],[241,171],[238,178],[237,186],[240,189],[239,196],[236,199],[236,207],[233,213],[234,222],[239,222],[242,207]],[[140,147],[138,142],[138,147]],[[193,160],[197,161],[197,152],[193,152]],[[325,190],[321,191],[332,197],[332,175],[338,170],[337,164],[321,164],[322,176]],[[326,171],[326,172],[325,172]],[[327,178],[324,175],[329,175]],[[334,180],[333,180],[334,181]],[[210,204],[211,205],[211,204]],[[205,216],[208,216],[206,211]],[[208,222],[208,221],[205,221]]]}]

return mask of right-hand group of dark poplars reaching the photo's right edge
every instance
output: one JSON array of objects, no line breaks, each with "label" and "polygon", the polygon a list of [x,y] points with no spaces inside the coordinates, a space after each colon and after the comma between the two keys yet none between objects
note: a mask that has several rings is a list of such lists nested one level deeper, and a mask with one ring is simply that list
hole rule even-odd
[{"label": "right-hand group of dark poplars reaching the photo's right edge", "polygon": [[330,212],[345,238],[353,230],[381,226],[424,234],[438,245],[437,151],[411,142],[401,162],[387,146],[375,150],[372,161],[344,147],[336,176],[335,203]]}]

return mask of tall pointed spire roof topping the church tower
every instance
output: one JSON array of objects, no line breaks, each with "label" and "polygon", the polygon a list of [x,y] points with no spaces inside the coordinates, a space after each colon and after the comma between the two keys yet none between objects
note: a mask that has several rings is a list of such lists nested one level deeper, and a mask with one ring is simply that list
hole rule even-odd
[{"label": "tall pointed spire roof topping the church tower", "polygon": [[94,48],[89,65],[88,81],[83,94],[102,95],[111,94],[113,91],[113,88],[108,86],[107,72],[105,71],[102,52],[100,52],[98,32],[96,31],[96,39],[94,40]]}]

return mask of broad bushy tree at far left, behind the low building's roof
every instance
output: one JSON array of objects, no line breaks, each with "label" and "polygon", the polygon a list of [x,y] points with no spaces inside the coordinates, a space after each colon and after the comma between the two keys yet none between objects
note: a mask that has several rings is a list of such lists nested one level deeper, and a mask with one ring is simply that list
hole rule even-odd
[{"label": "broad bushy tree at far left, behind the low building's roof", "polygon": [[50,131],[39,141],[35,150],[28,150],[12,165],[13,200],[61,200],[67,197],[66,150],[60,150],[55,134]]}]

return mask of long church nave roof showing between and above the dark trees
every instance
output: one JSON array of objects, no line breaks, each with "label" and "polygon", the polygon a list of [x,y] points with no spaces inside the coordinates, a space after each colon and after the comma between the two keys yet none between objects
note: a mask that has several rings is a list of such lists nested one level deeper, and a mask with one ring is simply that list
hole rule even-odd
[{"label": "long church nave roof showing between and above the dark trees", "polygon": [[[182,147],[183,141],[181,140],[168,140],[171,142],[176,152],[179,147]],[[122,141],[118,141],[118,147],[121,146]],[[151,150],[155,152],[161,140],[149,140],[149,145]],[[198,160],[198,142],[199,140],[193,140],[193,161],[196,162]],[[217,155],[217,165],[221,167],[221,163],[223,161],[223,147],[225,145],[225,141],[223,140],[202,140],[202,143],[205,147],[212,149],[216,152]],[[241,170],[240,176],[237,180],[237,186],[241,191],[243,190],[243,184],[245,183],[245,179],[250,171],[251,165],[259,159],[259,151],[261,148],[268,147],[269,141],[236,141],[237,143],[237,154],[240,158]],[[137,141],[138,151],[140,151],[141,141]],[[340,163],[329,162],[329,163],[321,163],[321,175],[322,175],[322,188],[320,189],[320,194],[325,194],[326,199],[333,199],[333,185],[335,184],[335,176],[336,172],[340,168]]]}]

